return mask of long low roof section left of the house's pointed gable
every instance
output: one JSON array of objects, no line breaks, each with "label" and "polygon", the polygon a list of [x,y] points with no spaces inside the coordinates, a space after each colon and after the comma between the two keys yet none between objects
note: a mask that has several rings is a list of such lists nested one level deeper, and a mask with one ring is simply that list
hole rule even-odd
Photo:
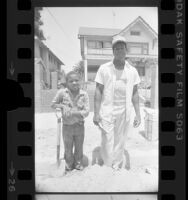
[{"label": "long low roof section left of the house's pointed gable", "polygon": [[122,29],[80,27],[78,35],[113,36],[118,34],[121,30]]}]

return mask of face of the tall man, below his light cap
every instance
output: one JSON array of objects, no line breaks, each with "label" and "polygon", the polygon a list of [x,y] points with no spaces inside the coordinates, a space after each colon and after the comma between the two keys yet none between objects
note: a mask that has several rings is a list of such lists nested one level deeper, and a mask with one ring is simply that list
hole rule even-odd
[{"label": "face of the tall man, below his light cap", "polygon": [[116,60],[123,60],[126,56],[126,47],[122,42],[118,42],[113,48],[114,58]]}]

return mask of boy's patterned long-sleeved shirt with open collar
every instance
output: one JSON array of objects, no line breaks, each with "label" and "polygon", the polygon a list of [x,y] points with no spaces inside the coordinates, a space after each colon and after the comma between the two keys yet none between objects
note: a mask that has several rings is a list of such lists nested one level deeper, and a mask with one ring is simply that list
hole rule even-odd
[{"label": "boy's patterned long-sleeved shirt with open collar", "polygon": [[[52,103],[62,104],[63,124],[72,125],[75,123],[83,124],[84,118],[89,115],[89,97],[87,92],[80,90],[79,94],[73,98],[68,88],[60,89],[54,97]],[[81,116],[67,116],[68,111],[79,111]]]}]

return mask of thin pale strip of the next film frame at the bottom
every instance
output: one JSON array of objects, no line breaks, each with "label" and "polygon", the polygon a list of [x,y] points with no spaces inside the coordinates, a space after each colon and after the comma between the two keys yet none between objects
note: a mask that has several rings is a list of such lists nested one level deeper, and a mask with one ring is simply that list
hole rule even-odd
[{"label": "thin pale strip of the next film frame at the bottom", "polygon": [[[157,195],[76,195],[77,200],[157,200]],[[36,200],[75,200],[75,195],[37,195]]]}]

